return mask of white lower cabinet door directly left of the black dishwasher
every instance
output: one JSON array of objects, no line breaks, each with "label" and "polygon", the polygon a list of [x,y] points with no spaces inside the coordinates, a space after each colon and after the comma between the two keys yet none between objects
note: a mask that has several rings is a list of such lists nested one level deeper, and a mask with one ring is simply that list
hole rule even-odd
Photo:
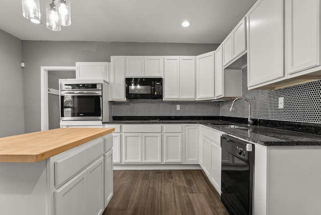
[{"label": "white lower cabinet door directly left of the black dishwasher", "polygon": [[212,143],[212,169],[211,169],[211,181],[216,190],[221,193],[221,169],[222,169],[222,155],[221,147],[215,143]]}]

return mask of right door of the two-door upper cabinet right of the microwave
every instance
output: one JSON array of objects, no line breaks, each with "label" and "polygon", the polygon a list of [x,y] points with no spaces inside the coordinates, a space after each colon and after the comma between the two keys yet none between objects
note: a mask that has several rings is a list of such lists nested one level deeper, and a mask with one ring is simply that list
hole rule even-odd
[{"label": "right door of the two-door upper cabinet right of the microwave", "polygon": [[180,98],[195,99],[195,57],[180,58]]}]

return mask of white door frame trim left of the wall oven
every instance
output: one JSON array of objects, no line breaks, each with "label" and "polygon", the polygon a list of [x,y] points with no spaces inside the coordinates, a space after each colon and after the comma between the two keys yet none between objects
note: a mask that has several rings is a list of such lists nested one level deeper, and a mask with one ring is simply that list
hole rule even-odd
[{"label": "white door frame trim left of the wall oven", "polygon": [[49,129],[48,71],[76,71],[76,66],[41,66],[40,67],[41,131],[46,131]]}]

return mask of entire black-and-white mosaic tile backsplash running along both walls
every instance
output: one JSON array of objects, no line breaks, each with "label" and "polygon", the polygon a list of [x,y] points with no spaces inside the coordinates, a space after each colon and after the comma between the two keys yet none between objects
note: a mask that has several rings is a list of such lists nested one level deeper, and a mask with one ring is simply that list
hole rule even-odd
[{"label": "entire black-and-white mosaic tile backsplash running along both walls", "polygon": [[[277,90],[248,90],[247,68],[242,69],[242,96],[251,102],[255,119],[303,123],[321,123],[321,80]],[[278,108],[278,98],[284,97],[284,108]],[[225,116],[248,117],[248,104],[239,99],[230,112],[233,100],[175,101],[129,100],[113,102],[113,116]],[[176,105],[180,104],[180,111]]]}]

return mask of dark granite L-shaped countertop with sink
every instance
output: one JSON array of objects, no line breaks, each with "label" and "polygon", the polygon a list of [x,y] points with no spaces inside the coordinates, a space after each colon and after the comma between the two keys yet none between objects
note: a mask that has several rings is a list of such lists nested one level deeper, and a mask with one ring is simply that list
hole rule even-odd
[{"label": "dark granite L-shaped countertop with sink", "polygon": [[[288,131],[264,126],[250,126],[224,120],[114,120],[104,124],[202,124],[246,141],[264,146],[321,146],[321,135]],[[243,128],[226,128],[236,125]],[[300,125],[302,126],[302,125]]]}]

